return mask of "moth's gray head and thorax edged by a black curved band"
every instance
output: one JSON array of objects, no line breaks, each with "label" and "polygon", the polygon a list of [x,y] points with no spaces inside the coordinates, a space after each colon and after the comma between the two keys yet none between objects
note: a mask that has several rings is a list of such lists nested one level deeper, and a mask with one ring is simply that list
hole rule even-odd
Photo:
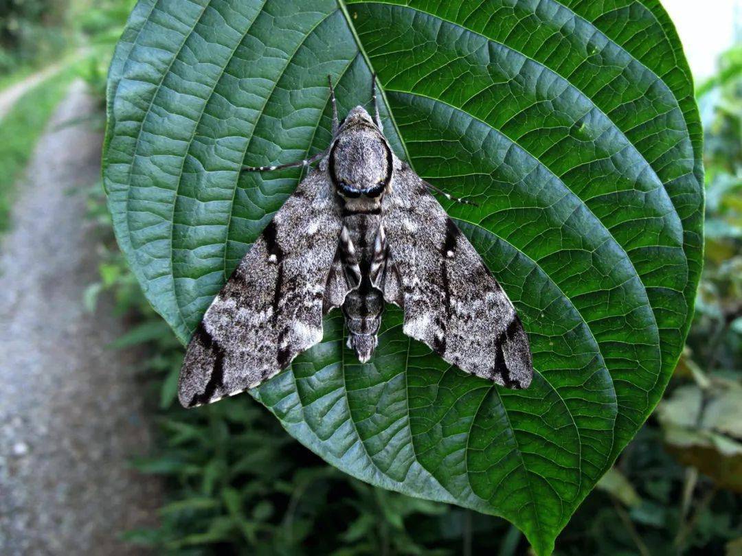
[{"label": "moth's gray head and thorax edged by a black curved band", "polygon": [[329,154],[329,171],[346,199],[378,197],[392,179],[392,151],[369,113],[350,110]]}]

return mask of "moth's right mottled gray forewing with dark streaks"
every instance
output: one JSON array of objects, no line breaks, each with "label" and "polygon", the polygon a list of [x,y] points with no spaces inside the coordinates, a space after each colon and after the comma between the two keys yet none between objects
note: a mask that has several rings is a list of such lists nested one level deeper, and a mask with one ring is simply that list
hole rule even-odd
[{"label": "moth's right mottled gray forewing with dark streaks", "polygon": [[389,260],[384,297],[404,334],[478,377],[527,388],[531,349],[513,304],[424,182],[406,165],[381,205]]}]

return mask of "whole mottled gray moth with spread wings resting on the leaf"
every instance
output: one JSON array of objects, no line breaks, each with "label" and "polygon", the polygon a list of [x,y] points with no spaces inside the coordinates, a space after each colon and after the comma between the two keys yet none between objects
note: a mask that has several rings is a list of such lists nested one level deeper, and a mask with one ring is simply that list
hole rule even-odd
[{"label": "whole mottled gray moth with spread wings resting on the leaf", "polygon": [[387,302],[403,309],[404,334],[448,363],[508,388],[531,383],[531,350],[513,304],[432,195],[439,190],[395,156],[375,77],[372,84],[375,116],[358,106],[340,122],[329,80],[327,150],[292,164],[243,168],[309,171],[194,332],[180,371],[183,406],[278,374],[322,340],[322,317],[335,308],[345,316],[348,347],[366,363]]}]

